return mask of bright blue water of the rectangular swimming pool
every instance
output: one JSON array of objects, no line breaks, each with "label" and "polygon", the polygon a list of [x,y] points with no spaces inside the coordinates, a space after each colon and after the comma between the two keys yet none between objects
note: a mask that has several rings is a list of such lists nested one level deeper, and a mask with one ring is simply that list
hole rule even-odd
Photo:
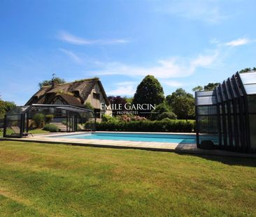
[{"label": "bright blue water of the rectangular swimming pool", "polygon": [[196,143],[195,135],[157,134],[157,133],[83,133],[78,135],[58,135],[55,137],[86,140],[125,140],[136,142]]}]

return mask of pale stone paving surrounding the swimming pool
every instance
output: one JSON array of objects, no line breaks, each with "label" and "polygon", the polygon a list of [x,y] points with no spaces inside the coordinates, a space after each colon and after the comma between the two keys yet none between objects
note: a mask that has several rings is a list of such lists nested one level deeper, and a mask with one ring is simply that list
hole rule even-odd
[{"label": "pale stone paving surrounding the swimming pool", "polygon": [[[85,147],[104,147],[104,148],[119,148],[119,149],[142,149],[149,151],[170,151],[184,154],[206,154],[215,156],[234,156],[234,157],[247,157],[256,158],[256,154],[243,154],[232,151],[223,150],[206,150],[198,149],[197,144],[183,144],[183,143],[169,143],[169,142],[135,142],[135,141],[123,141],[123,140],[92,140],[92,139],[79,139],[79,138],[68,138],[68,137],[53,137],[58,135],[79,135],[85,132],[76,133],[42,133],[35,134],[34,137],[22,137],[22,138],[3,138],[0,140],[12,140],[20,142],[41,142],[50,144],[70,144],[79,145]],[[97,133],[106,133],[97,131]],[[107,132],[117,133],[117,132]],[[125,132],[120,132],[125,133]],[[133,132],[126,132],[133,133]],[[142,133],[142,132],[140,132]],[[166,133],[157,133],[166,134]],[[168,134],[179,134],[179,133],[168,133]],[[194,133],[180,133],[181,135],[195,135]]]}]

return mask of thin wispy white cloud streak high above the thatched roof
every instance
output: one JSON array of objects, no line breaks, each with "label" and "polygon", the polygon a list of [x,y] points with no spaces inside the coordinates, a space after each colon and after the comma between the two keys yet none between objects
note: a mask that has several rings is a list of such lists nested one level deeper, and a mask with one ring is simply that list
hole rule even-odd
[{"label": "thin wispy white cloud streak high above the thatched roof", "polygon": [[58,34],[59,40],[62,40],[66,43],[71,43],[73,45],[92,45],[92,44],[101,44],[101,45],[111,45],[111,44],[120,44],[120,43],[128,43],[128,40],[125,39],[111,39],[111,40],[88,40],[85,38],[80,38],[78,36],[74,36],[71,33],[66,31],[60,31]]}]

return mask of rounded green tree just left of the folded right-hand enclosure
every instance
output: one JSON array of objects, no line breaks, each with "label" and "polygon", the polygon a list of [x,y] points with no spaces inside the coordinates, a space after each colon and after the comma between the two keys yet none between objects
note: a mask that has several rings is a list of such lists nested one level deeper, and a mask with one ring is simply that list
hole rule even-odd
[{"label": "rounded green tree just left of the folded right-hand enclosure", "polygon": [[171,106],[178,119],[194,119],[194,96],[184,89],[176,89],[166,96],[166,102]]}]

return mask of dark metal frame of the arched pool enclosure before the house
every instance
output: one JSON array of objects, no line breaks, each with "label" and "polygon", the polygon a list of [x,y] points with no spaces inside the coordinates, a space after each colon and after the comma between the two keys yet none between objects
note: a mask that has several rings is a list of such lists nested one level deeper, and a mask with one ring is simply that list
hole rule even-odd
[{"label": "dark metal frame of the arched pool enclosure before the house", "polygon": [[[21,112],[20,114],[6,114],[4,117],[4,124],[3,124],[3,137],[22,137],[23,133],[25,133],[25,128],[28,133],[29,130],[29,111],[34,108],[34,107],[48,107],[48,108],[57,108],[61,110],[66,110],[66,131],[67,132],[75,132],[77,131],[77,112],[91,112],[93,117],[94,117],[94,126],[96,124],[96,116],[92,110],[87,110],[82,107],[76,107],[73,105],[45,105],[45,104],[32,104],[27,107],[26,110]],[[7,116],[20,116],[20,135],[6,135],[6,128],[7,128],[7,123],[6,123],[6,117]],[[26,117],[27,116],[27,117]],[[25,122],[26,127],[25,127]],[[71,124],[71,125],[70,125]],[[93,129],[94,130],[94,129]]]}]

